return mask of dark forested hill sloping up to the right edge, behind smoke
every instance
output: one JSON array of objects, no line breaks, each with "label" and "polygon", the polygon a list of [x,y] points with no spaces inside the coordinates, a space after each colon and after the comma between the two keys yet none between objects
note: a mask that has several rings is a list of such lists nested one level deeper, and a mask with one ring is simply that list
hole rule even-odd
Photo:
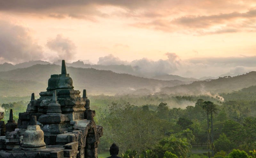
[{"label": "dark forested hill sloping up to the right edge, behind smoke", "polygon": [[218,94],[238,91],[252,85],[256,85],[255,71],[234,77],[220,77],[211,81],[196,81],[187,85],[168,86],[162,88],[160,93],[182,95]]}]

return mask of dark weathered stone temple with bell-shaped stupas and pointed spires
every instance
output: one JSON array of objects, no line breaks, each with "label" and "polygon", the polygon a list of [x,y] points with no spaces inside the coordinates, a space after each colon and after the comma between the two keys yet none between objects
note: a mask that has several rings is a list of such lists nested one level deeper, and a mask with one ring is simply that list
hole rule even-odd
[{"label": "dark weathered stone temple with bell-shaped stupas and pointed spires", "polygon": [[32,93],[17,123],[12,110],[8,123],[0,122],[0,158],[97,158],[103,128],[93,121],[86,90],[83,97],[74,90],[64,60],[61,74],[51,75],[46,90],[39,99]]}]

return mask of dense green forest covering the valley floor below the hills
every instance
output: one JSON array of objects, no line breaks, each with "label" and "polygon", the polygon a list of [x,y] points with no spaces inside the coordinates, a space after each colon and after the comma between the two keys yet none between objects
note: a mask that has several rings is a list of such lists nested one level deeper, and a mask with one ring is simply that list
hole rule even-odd
[{"label": "dense green forest covering the valley floor below the hills", "polygon": [[[95,121],[104,127],[99,153],[115,142],[123,157],[255,157],[255,90],[251,86],[222,93],[224,100],[207,95],[89,96]],[[1,104],[4,120],[14,109],[17,121],[27,104]],[[191,152],[196,148],[204,151]]]}]

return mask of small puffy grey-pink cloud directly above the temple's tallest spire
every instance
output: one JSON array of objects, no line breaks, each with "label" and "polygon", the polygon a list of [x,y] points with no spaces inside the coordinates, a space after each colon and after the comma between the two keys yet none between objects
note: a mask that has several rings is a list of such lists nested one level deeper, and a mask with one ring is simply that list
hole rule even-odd
[{"label": "small puffy grey-pink cloud directly above the temple's tallest spire", "polygon": [[75,43],[60,34],[58,34],[55,39],[49,39],[46,46],[50,50],[57,52],[57,56],[54,57],[54,60],[66,59],[67,61],[71,61],[76,54]]}]

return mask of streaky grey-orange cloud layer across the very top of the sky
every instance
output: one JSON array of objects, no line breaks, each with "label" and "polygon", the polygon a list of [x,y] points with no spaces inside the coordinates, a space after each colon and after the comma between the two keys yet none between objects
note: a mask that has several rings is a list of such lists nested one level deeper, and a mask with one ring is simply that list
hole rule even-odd
[{"label": "streaky grey-orange cloud layer across the very top of the sky", "polygon": [[202,36],[255,31],[255,5],[255,0],[19,0],[0,1],[0,11],[91,22],[121,17],[129,19],[127,26]]}]

